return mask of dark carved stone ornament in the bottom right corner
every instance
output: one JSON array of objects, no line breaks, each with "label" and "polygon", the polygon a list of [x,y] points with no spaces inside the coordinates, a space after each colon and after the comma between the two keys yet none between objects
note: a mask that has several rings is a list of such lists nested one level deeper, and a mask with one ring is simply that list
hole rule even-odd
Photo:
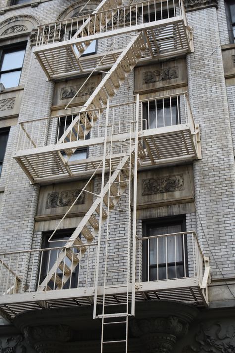
[{"label": "dark carved stone ornament in the bottom right corner", "polygon": [[225,327],[221,323],[207,327],[201,325],[194,341],[194,344],[184,347],[183,353],[235,353],[235,326]]}]

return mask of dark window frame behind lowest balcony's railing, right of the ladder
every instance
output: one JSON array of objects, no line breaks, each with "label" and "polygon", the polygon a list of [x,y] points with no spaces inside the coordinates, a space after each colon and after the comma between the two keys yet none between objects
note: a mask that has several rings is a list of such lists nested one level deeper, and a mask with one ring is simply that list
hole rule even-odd
[{"label": "dark window frame behind lowest balcony's railing, right of the ladder", "polygon": [[[149,230],[148,228],[153,227],[156,225],[157,227],[164,227],[164,226],[169,226],[169,225],[181,225],[181,232],[186,232],[186,217],[185,215],[178,215],[178,216],[170,216],[170,217],[162,217],[162,218],[154,218],[154,219],[146,219],[142,220],[142,237],[148,237],[149,235]],[[186,269],[186,273],[184,273],[183,277],[188,277],[188,254],[187,254],[187,238],[184,240],[185,243],[185,266],[183,266],[183,272],[184,272],[184,267]],[[182,242],[183,244],[183,242]],[[142,242],[142,282],[148,282],[148,246],[147,246],[147,241]],[[172,264],[175,266],[174,263],[167,262],[167,267],[172,266]],[[176,265],[184,265],[184,261],[177,261]],[[152,265],[153,267],[154,265]],[[159,263],[158,267],[166,267],[166,262],[164,263]],[[178,277],[177,277],[178,278]],[[159,281],[166,281],[167,279],[161,279]],[[170,280],[168,278],[168,280]],[[157,281],[157,280],[151,280],[149,278],[149,281]]]}]

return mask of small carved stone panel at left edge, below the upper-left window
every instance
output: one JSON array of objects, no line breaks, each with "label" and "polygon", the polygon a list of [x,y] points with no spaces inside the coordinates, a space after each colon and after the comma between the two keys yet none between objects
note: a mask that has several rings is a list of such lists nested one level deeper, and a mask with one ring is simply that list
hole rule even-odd
[{"label": "small carved stone panel at left edge, below the upper-left window", "polygon": [[0,93],[0,118],[19,114],[22,95],[22,88]]}]

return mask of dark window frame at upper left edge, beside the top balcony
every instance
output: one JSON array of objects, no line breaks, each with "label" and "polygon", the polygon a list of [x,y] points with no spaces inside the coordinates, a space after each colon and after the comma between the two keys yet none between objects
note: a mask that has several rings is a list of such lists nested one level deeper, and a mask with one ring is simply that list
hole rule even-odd
[{"label": "dark window frame at upper left edge, beside the top balcony", "polygon": [[[4,74],[4,73],[20,71],[20,77],[19,77],[19,83],[20,83],[22,69],[23,69],[24,60],[25,60],[26,47],[27,47],[27,41],[22,41],[22,42],[19,42],[19,43],[5,45],[5,46],[0,47],[0,80],[1,80],[1,75]],[[3,64],[3,60],[4,60],[4,54],[14,53],[14,52],[20,51],[22,49],[24,49],[24,51],[25,51],[24,52],[24,59],[23,59],[22,66],[18,67],[18,68],[10,69],[10,70],[2,71],[1,67],[2,67],[2,64]],[[8,89],[13,88],[13,87],[18,87],[19,83],[18,83],[17,86],[8,87]],[[7,87],[5,87],[5,88],[7,88]]]}]

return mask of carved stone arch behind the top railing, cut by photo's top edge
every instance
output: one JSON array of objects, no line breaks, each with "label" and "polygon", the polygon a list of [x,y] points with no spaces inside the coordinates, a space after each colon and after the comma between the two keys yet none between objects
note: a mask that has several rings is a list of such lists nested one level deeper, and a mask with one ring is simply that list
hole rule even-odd
[{"label": "carved stone arch behind the top railing, cut by photo's top edge", "polygon": [[87,2],[87,0],[78,0],[78,1],[76,1],[76,3],[65,8],[57,17],[57,21],[67,19],[67,18],[82,16],[85,13],[90,13],[90,12],[94,11],[100,3],[99,0],[91,0],[86,6],[86,10],[84,8],[83,11],[81,11],[81,9],[86,4],[86,2]]}]

